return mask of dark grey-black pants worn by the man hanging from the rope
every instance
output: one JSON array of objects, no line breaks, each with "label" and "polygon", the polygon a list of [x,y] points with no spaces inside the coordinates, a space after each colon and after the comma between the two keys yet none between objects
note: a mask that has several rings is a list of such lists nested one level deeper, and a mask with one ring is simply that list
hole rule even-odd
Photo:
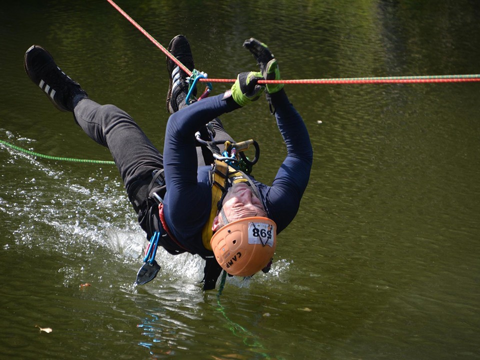
[{"label": "dark grey-black pants worn by the man hanging from the rope", "polygon": [[[132,201],[139,186],[150,182],[152,172],[163,168],[160,151],[153,146],[131,116],[114,105],[100,105],[84,98],[75,105],[73,114],[75,121],[90,138],[108,147],[128,198]],[[215,140],[233,141],[219,119],[211,122],[215,130]],[[199,165],[209,164],[213,160],[211,153],[202,151],[200,147],[197,148],[197,157]],[[146,231],[147,237],[150,237],[153,231],[158,231],[158,211],[155,203],[145,200],[135,210],[138,213],[138,223]]]}]

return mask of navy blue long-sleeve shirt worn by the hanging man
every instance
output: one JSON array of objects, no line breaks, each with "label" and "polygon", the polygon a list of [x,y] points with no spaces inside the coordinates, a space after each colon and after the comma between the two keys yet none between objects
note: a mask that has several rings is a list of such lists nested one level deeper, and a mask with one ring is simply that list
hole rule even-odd
[{"label": "navy blue long-sleeve shirt worn by the hanging man", "polygon": [[[283,230],[298,211],[301,196],[308,183],[312,164],[312,148],[301,116],[283,90],[271,94],[278,129],[286,144],[287,154],[270,186],[252,180],[260,200]],[[166,194],[163,202],[165,221],[177,241],[203,257],[205,249],[201,230],[211,209],[210,166],[198,166],[194,133],[211,119],[238,108],[223,94],[211,96],[172,114],[168,120],[163,148]]]}]

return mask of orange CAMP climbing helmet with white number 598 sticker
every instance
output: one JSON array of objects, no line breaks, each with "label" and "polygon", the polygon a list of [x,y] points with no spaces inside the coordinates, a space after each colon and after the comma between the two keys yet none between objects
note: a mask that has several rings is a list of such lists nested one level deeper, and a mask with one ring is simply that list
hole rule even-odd
[{"label": "orange CAMP climbing helmet with white number 598 sticker", "polygon": [[252,216],[220,227],[210,239],[216,261],[230,275],[251,276],[264,268],[276,246],[276,224]]}]

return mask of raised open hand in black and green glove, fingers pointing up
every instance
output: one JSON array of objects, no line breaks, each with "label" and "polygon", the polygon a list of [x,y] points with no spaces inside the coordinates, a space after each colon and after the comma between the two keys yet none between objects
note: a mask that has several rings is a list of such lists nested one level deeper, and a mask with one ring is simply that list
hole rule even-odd
[{"label": "raised open hand in black and green glove, fingers pointing up", "polygon": [[[251,37],[243,42],[243,46],[246,47],[255,58],[256,62],[260,66],[261,74],[265,80],[280,79],[278,63],[271,51],[263,42]],[[266,84],[266,91],[268,93],[280,91],[282,88],[282,83]]]}]

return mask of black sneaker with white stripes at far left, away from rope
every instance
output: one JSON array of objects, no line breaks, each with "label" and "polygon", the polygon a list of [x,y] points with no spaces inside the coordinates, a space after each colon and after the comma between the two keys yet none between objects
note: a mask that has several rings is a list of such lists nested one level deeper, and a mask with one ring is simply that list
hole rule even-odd
[{"label": "black sneaker with white stripes at far left, away from rope", "polygon": [[57,109],[73,111],[73,98],[87,97],[80,85],[55,64],[53,57],[43,47],[30,46],[25,52],[23,65],[28,77],[40,86]]}]

